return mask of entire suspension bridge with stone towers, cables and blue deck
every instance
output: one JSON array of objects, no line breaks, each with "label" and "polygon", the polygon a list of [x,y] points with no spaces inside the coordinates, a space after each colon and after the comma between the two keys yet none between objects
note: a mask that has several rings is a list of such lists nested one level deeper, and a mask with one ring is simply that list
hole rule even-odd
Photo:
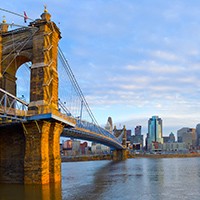
[{"label": "entire suspension bridge with stone towers, cables and blue deck", "polygon": [[[125,159],[126,129],[116,134],[99,126],[46,8],[41,19],[14,27],[5,19],[0,24],[0,182],[60,181],[60,135],[99,142],[115,160]],[[17,97],[23,65],[30,71],[29,102]]]}]

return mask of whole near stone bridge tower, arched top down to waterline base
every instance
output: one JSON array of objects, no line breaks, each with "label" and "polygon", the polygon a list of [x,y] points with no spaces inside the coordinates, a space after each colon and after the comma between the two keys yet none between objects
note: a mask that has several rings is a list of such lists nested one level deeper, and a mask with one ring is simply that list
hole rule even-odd
[{"label": "whole near stone bridge tower, arched top down to waterline base", "polygon": [[16,71],[26,62],[32,66],[29,119],[0,126],[0,182],[45,184],[61,180],[60,134],[64,125],[75,122],[58,112],[60,38],[46,9],[41,19],[28,27],[8,31],[6,21],[1,24],[0,88],[16,96]]}]

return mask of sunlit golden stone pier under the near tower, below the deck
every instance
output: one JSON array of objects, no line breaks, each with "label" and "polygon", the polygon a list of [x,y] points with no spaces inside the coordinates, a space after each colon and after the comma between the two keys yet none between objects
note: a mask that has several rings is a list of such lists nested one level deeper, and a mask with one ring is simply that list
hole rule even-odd
[{"label": "sunlit golden stone pier under the near tower, below the deck", "polygon": [[25,125],[24,184],[61,180],[59,138],[62,130],[63,126],[56,122],[35,121]]}]

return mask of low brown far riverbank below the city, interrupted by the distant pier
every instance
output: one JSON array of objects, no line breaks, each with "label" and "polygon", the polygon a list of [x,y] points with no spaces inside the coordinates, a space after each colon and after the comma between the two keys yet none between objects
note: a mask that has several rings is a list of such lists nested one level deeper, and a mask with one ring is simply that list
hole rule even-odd
[{"label": "low brown far riverbank below the city, interrupted by the distant pier", "polygon": [[[200,157],[200,153],[187,153],[187,154],[136,154],[128,155],[127,159],[137,158],[194,158]],[[111,155],[84,155],[84,156],[61,156],[61,162],[83,162],[83,161],[98,161],[98,160],[112,160]]]}]

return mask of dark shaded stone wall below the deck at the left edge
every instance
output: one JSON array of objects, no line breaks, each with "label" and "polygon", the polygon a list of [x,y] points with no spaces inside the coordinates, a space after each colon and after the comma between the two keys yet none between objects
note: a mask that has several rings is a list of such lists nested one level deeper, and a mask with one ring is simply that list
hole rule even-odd
[{"label": "dark shaded stone wall below the deck at the left edge", "polygon": [[0,128],[0,183],[23,183],[25,137],[20,125]]}]

